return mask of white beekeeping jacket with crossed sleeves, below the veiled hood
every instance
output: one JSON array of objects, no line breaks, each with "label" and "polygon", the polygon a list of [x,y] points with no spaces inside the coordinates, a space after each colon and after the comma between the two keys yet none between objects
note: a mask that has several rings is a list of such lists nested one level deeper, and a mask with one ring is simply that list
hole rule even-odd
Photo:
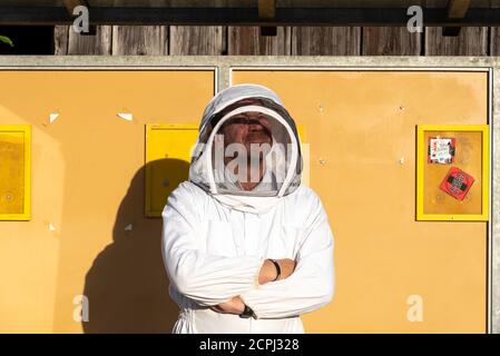
[{"label": "white beekeeping jacket with crossed sleeves, below the veiled hood", "polygon": [[[244,97],[255,90],[272,96],[263,87],[248,87],[242,89],[254,92]],[[170,296],[180,308],[173,332],[303,333],[300,315],[330,303],[334,293],[333,235],[320,198],[298,185],[274,199],[227,200],[189,180],[171,192],[163,211],[164,263]],[[253,205],[255,199],[261,200]],[[266,258],[291,258],[297,265],[288,278],[258,285]],[[234,296],[254,310],[255,319],[210,309]]]}]

